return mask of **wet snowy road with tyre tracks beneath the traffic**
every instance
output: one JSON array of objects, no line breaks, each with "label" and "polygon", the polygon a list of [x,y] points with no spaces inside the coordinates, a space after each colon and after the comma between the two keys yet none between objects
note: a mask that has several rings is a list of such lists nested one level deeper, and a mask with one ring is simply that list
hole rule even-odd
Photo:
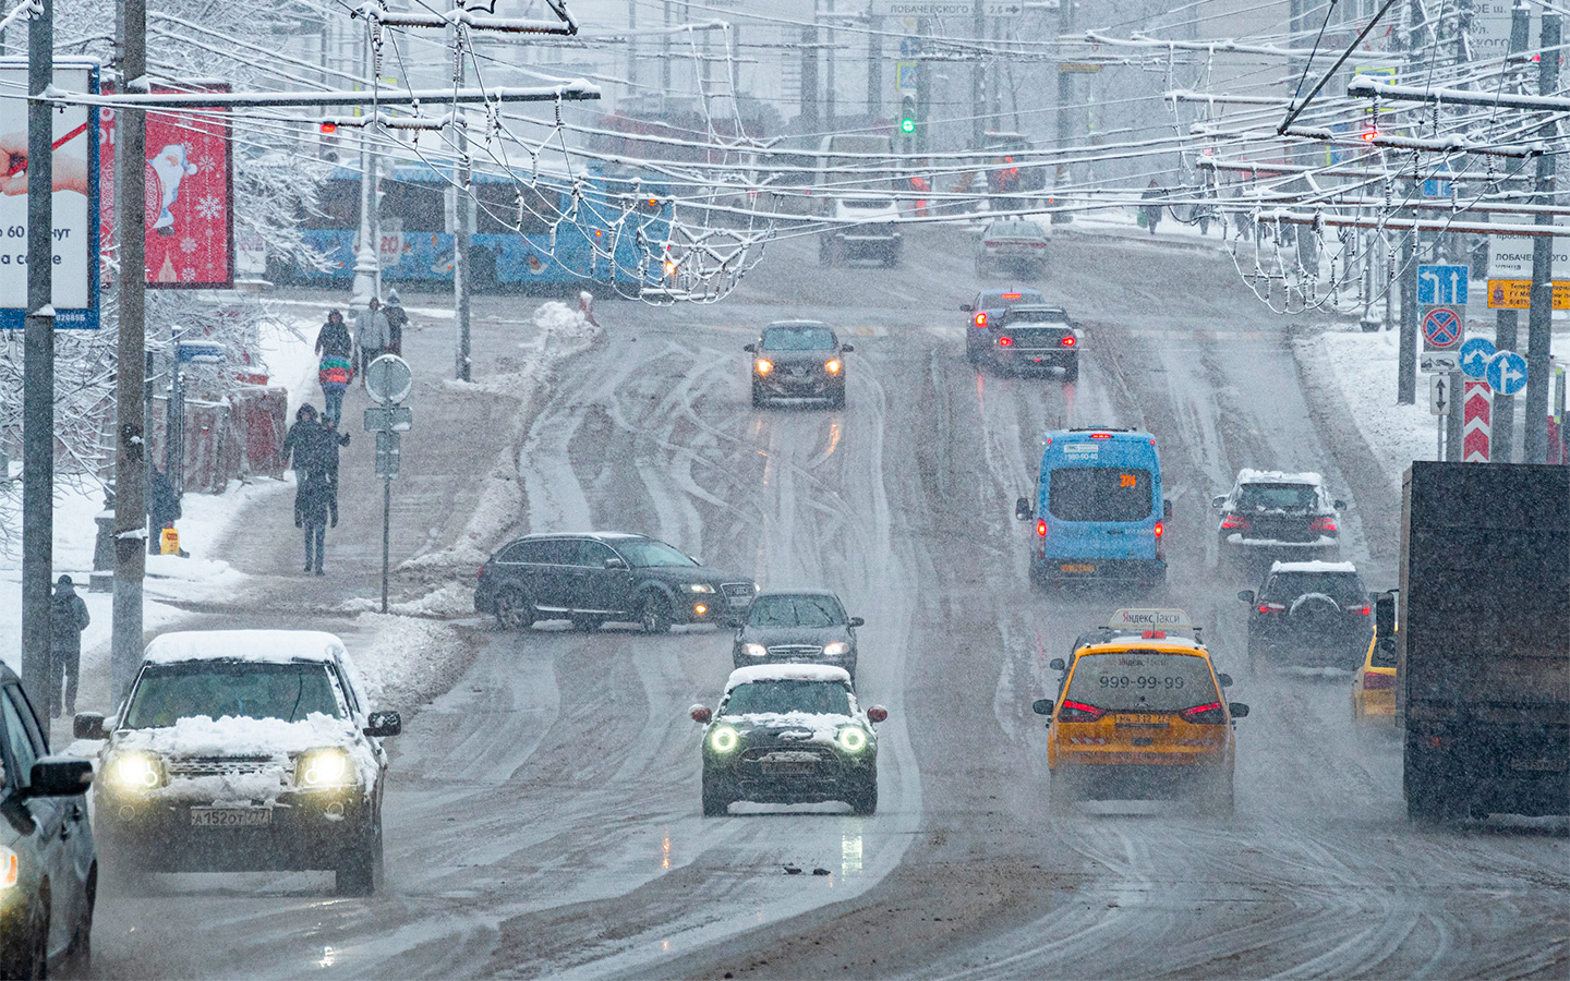
[{"label": "wet snowy road with tyre tracks beneath the traffic", "polygon": [[[1215,571],[1209,510],[1237,468],[1322,471],[1353,502],[1349,557],[1374,587],[1394,568],[1356,518],[1383,482],[1339,472],[1287,325],[1212,257],[1066,239],[1050,287],[1088,326],[1080,381],[977,375],[956,311],[969,262],[909,245],[889,273],[820,270],[787,242],[735,301],[603,305],[606,341],[521,447],[526,531],[644,531],[867,618],[864,702],[890,709],[874,818],[699,816],[686,706],[713,703],[724,634],[477,626],[473,667],[396,741],[383,895],[336,899],[323,874],[160,877],[104,898],[96,972],[1565,976],[1562,833],[1415,830],[1399,744],[1350,731],[1345,678],[1245,676],[1234,593],[1253,584]],[[857,345],[845,411],[750,408],[739,347],[787,315]],[[1119,603],[1033,593],[1011,510],[1039,432],[1091,422],[1162,438],[1168,601],[1212,625],[1253,706],[1229,822],[1143,804],[1046,816],[1030,702]]]}]

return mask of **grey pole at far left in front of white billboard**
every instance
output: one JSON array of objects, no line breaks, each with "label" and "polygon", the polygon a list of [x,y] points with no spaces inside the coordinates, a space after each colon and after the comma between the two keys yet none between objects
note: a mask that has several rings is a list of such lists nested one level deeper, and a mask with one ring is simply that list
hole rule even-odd
[{"label": "grey pole at far left in front of white billboard", "polygon": [[[27,319],[22,337],[22,686],[50,697],[55,560],[55,127],[41,99],[55,77],[55,5],[27,25]],[[97,275],[97,270],[89,270]]]}]

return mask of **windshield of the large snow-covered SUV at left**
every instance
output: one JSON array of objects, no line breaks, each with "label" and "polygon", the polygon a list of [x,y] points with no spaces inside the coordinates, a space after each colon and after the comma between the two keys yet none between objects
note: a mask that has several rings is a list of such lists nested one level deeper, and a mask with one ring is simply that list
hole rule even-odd
[{"label": "windshield of the large snow-covered SUV at left", "polygon": [[311,713],[344,717],[325,664],[155,664],[137,681],[124,725],[151,728],[201,716],[298,722]]}]

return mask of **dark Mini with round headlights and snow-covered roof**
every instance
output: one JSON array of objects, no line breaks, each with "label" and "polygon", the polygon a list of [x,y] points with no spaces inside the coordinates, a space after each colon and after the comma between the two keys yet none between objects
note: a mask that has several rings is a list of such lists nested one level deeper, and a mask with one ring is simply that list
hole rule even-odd
[{"label": "dark Mini with round headlights and snow-covered roof", "polygon": [[804,804],[843,800],[857,815],[878,810],[878,733],[889,713],[862,711],[843,667],[761,664],[730,672],[703,724],[703,816],[735,800]]}]

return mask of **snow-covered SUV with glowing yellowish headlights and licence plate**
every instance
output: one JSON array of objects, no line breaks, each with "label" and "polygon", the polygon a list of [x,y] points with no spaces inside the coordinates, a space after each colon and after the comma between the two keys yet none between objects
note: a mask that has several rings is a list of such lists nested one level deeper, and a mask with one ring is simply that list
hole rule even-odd
[{"label": "snow-covered SUV with glowing yellowish headlights and licence plate", "polygon": [[94,822],[130,873],[331,870],[338,893],[382,879],[382,739],[344,642],[292,629],[176,631],[148,645],[105,739]]}]

